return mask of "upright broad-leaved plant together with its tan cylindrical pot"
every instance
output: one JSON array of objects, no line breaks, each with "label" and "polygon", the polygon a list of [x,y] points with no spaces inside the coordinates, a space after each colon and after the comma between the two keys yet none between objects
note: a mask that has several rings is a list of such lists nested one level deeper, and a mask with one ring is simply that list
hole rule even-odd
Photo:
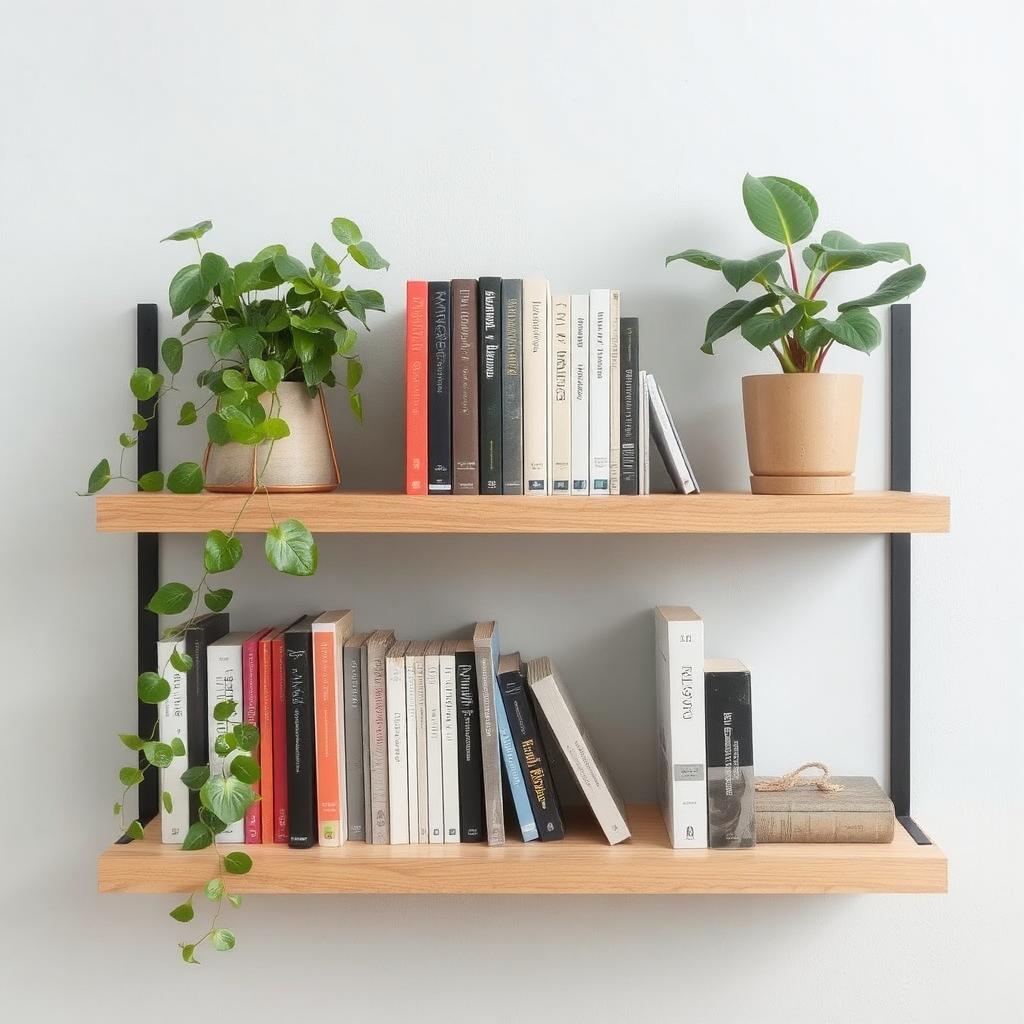
[{"label": "upright broad-leaved plant together with its tan cylindrical pot", "polygon": [[[768,349],[782,374],[742,380],[751,488],[755,494],[849,494],[857,460],[862,378],[824,374],[833,345],[871,352],[882,327],[870,307],[906,298],[925,280],[925,268],[908,265],[887,278],[869,295],[841,302],[835,317],[820,298],[825,282],[846,270],[876,263],[910,264],[901,242],[858,242],[843,231],[825,231],[806,246],[803,285],[794,246],[806,239],[818,218],[818,205],[804,185],[775,176],[743,178],[743,205],[754,226],[784,249],[752,259],[724,259],[702,249],[669,256],[666,265],[685,260],[722,273],[735,291],[752,286],[761,294],[737,298],[708,317],[702,352],[735,330],[757,349]],[[785,258],[784,266],[781,260]]]}]

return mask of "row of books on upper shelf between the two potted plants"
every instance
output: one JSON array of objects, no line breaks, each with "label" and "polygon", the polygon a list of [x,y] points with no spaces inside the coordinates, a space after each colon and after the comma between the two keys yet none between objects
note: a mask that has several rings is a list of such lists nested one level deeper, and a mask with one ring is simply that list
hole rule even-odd
[{"label": "row of books on upper shelf between the two potted plants", "polygon": [[617,289],[551,294],[541,278],[410,281],[410,495],[641,495],[654,437],[697,489]]}]

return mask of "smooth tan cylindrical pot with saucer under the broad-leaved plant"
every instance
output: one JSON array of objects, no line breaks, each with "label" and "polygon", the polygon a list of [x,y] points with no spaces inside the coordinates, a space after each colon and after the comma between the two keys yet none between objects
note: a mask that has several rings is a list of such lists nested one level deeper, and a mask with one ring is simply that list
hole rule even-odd
[{"label": "smooth tan cylindrical pot with saucer under the broad-leaved plant", "polygon": [[852,494],[862,390],[859,374],[744,377],[751,490]]}]

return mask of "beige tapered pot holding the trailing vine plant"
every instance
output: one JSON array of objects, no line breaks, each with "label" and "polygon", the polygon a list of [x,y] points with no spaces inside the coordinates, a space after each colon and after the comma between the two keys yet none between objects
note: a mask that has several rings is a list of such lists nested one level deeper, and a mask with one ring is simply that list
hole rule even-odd
[{"label": "beige tapered pot holding the trailing vine plant", "polygon": [[[278,385],[278,397],[281,409],[274,415],[288,423],[289,436],[274,441],[269,462],[268,441],[208,444],[203,462],[207,490],[249,493],[256,485],[257,469],[261,483],[271,493],[334,490],[338,486],[341,474],[323,390],[310,398],[305,384],[286,381]],[[260,402],[269,412],[270,395],[261,395]]]}]

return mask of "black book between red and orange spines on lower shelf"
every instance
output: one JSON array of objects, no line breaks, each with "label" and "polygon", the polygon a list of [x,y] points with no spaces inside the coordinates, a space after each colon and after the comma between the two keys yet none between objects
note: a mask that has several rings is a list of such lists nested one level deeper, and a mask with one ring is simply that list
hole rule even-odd
[{"label": "black book between red and orange spines on lower shelf", "polygon": [[312,634],[285,634],[288,741],[288,845],[316,845],[316,751],[313,736]]}]

